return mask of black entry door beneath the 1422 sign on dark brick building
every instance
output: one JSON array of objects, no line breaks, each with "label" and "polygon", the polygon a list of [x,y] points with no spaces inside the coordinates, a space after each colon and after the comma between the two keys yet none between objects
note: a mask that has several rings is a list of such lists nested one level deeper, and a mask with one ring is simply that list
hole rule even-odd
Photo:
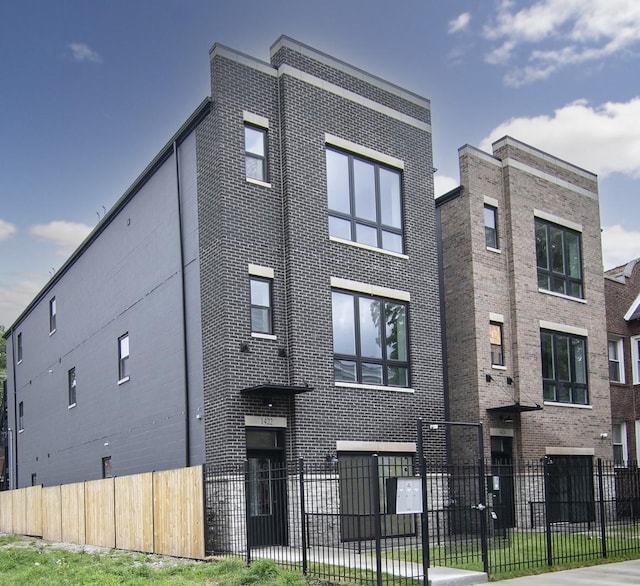
[{"label": "black entry door beneath the 1422 sign on dark brick building", "polygon": [[284,450],[248,448],[247,461],[249,545],[287,545],[287,474]]}]

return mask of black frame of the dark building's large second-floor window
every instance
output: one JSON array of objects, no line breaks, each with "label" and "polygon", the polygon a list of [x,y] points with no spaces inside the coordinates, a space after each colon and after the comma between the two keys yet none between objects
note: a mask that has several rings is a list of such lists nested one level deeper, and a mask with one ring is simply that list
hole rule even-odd
[{"label": "black frame of the dark building's large second-floor window", "polygon": [[[335,351],[335,306],[334,306],[334,295],[344,295],[345,297],[351,297],[352,302],[352,316],[353,316],[353,343],[354,343],[354,354],[346,354]],[[360,301],[373,301],[382,304],[382,308],[384,308],[385,304],[390,303],[403,308],[404,312],[404,328],[405,328],[405,339],[404,339],[404,347],[406,348],[406,359],[393,359],[387,356],[388,350],[388,342],[387,342],[387,333],[385,324],[388,325],[388,322],[385,321],[381,324],[378,333],[380,334],[380,351],[381,357],[370,357],[363,356],[362,354],[362,332],[361,332],[361,324],[360,324]],[[354,385],[362,385],[362,386],[375,386],[375,387],[386,387],[390,389],[410,389],[411,388],[411,356],[409,349],[409,303],[399,300],[393,299],[389,297],[382,297],[378,295],[367,295],[362,294],[357,291],[349,291],[344,289],[331,289],[331,310],[332,310],[332,330],[333,330],[333,373],[334,373],[334,382],[337,385],[340,384],[354,384]],[[384,311],[384,309],[382,309]],[[337,368],[336,363],[338,361],[345,362],[353,362],[355,367],[355,379],[347,380],[341,379],[336,376]],[[363,374],[363,365],[379,365],[382,370],[382,382],[381,383],[372,383],[364,380]],[[398,368],[405,369],[406,371],[406,384],[392,384],[389,382],[390,368]]]}]

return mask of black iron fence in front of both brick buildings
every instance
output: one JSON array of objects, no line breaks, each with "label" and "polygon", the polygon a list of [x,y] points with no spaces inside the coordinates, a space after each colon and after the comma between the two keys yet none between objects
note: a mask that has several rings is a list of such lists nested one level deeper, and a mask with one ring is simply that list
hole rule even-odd
[{"label": "black iron fence in front of both brick buildings", "polygon": [[327,581],[426,584],[434,566],[499,577],[640,554],[640,470],[590,457],[423,471],[407,455],[265,457],[207,466],[205,488],[209,554]]}]

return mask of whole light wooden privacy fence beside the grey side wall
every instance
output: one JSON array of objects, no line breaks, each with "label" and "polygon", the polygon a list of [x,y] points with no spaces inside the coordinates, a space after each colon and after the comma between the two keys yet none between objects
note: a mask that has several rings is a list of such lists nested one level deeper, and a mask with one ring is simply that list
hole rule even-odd
[{"label": "whole light wooden privacy fence beside the grey side wall", "polygon": [[205,557],[202,466],[0,492],[0,532]]}]

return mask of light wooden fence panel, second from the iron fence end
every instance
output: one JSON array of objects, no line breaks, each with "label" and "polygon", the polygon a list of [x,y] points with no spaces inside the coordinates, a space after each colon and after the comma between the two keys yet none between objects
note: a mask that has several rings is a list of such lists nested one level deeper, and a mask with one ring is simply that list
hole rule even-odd
[{"label": "light wooden fence panel, second from the iron fence end", "polygon": [[153,473],[115,479],[116,547],[153,552]]}]

